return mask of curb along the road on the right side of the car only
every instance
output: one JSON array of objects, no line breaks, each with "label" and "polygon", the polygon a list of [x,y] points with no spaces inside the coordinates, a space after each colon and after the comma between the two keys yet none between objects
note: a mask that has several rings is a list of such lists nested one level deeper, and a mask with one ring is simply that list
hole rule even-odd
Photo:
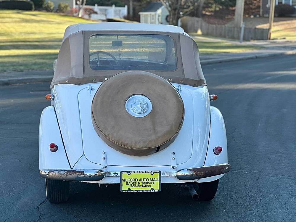
[{"label": "curb along the road on the right side of the car only", "polygon": [[265,57],[271,57],[271,56],[277,56],[277,55],[294,55],[294,54],[296,54],[296,50],[229,57],[229,58],[221,58],[221,59],[205,59],[205,60],[201,60],[200,64],[206,65],[206,64],[214,64],[214,63],[221,63],[221,62],[233,62],[233,61],[246,60],[246,59],[257,59],[257,58],[265,58]]}]

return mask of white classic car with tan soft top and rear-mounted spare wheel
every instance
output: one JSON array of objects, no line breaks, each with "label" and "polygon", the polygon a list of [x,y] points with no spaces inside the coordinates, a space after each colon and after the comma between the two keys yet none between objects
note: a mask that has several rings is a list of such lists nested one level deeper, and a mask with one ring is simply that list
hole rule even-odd
[{"label": "white classic car with tan soft top and rear-mounted spare wheel", "polygon": [[40,119],[46,197],[69,181],[159,192],[162,184],[211,200],[230,170],[223,117],[210,106],[195,41],[182,28],[88,23],[65,30]]}]

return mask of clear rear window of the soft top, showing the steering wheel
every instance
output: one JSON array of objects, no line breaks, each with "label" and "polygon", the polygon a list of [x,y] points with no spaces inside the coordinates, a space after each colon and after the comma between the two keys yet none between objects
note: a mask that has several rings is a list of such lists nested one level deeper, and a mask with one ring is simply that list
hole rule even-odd
[{"label": "clear rear window of the soft top, showing the steering wheel", "polygon": [[94,35],[89,38],[89,65],[94,70],[173,71],[175,43],[167,35]]}]

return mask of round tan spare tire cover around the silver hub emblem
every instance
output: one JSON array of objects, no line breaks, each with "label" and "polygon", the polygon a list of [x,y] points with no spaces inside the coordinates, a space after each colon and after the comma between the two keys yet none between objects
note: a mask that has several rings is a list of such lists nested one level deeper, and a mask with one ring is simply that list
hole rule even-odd
[{"label": "round tan spare tire cover around the silver hub emblem", "polygon": [[[147,96],[151,112],[134,117],[126,110],[127,99]],[[164,78],[144,71],[127,71],[104,81],[91,107],[94,129],[113,149],[127,155],[151,155],[167,147],[184,119],[184,104],[175,87]]]}]

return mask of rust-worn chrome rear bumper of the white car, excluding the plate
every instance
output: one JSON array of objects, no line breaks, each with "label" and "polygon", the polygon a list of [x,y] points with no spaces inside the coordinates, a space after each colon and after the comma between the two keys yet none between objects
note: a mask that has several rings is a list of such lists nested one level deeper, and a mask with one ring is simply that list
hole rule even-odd
[{"label": "rust-worn chrome rear bumper of the white car, excluding the plate", "polygon": [[[189,168],[178,171],[161,171],[161,176],[175,176],[179,180],[197,180],[210,176],[227,173],[230,170],[228,163],[213,166]],[[120,171],[103,171],[88,169],[55,169],[40,170],[40,176],[51,180],[67,181],[99,181],[104,177],[119,177]]]}]

